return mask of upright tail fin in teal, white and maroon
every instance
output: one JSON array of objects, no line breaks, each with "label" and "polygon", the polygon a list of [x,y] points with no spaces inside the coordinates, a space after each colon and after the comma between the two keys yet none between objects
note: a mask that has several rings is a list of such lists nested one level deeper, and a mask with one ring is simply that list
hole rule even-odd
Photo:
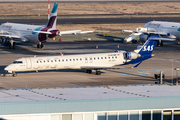
[{"label": "upright tail fin in teal, white and maroon", "polygon": [[46,27],[54,28],[54,29],[56,28],[57,9],[58,9],[58,3],[54,3],[53,9],[51,11],[51,15],[49,17]]}]

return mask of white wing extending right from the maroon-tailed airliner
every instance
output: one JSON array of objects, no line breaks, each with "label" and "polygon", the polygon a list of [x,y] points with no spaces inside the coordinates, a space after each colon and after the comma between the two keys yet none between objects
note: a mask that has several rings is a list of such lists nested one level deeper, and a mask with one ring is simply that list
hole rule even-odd
[{"label": "white wing extending right from the maroon-tailed airliner", "polygon": [[87,34],[87,33],[93,33],[93,32],[96,32],[95,31],[82,31],[82,30],[69,30],[69,31],[60,31],[59,35],[63,35],[63,34],[74,34],[76,35],[77,33],[80,33],[80,34]]}]

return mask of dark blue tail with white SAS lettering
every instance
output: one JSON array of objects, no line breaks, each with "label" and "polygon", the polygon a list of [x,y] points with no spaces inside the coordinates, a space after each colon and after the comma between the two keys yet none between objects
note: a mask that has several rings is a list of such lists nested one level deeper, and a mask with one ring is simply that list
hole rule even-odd
[{"label": "dark blue tail with white SAS lettering", "polygon": [[158,36],[149,37],[146,43],[140,48],[139,52],[134,53],[137,57],[127,61],[125,64],[137,64],[134,67],[137,67],[142,61],[151,58],[154,47],[157,44],[157,40],[152,40],[153,38],[160,38]]}]

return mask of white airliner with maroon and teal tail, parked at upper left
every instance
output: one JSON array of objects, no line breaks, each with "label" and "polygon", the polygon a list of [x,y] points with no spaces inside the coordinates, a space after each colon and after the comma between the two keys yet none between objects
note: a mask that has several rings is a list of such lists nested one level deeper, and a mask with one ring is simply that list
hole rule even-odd
[{"label": "white airliner with maroon and teal tail, parked at upper left", "polygon": [[15,49],[16,39],[23,42],[33,41],[38,43],[37,48],[43,48],[43,44],[48,38],[60,36],[62,34],[76,34],[76,33],[92,33],[94,31],[59,31],[56,29],[58,3],[54,3],[50,18],[46,26],[36,26],[17,23],[3,23],[0,26],[1,43]]}]

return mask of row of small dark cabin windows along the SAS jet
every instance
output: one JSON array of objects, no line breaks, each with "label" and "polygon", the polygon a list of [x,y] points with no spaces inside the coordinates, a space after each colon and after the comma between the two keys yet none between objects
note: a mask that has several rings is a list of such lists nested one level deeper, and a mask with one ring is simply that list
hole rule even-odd
[{"label": "row of small dark cabin windows along the SAS jet", "polygon": [[[112,57],[94,57],[94,60],[100,60],[100,59],[117,59],[117,56],[112,56]],[[80,59],[62,59],[62,60],[47,60],[47,62],[65,62],[65,61],[78,61],[78,60],[80,60],[80,61],[82,61],[82,58],[80,58]],[[85,60],[88,60],[87,58],[85,58]],[[90,58],[90,60],[93,60],[93,58]],[[45,63],[46,61],[44,60],[42,60],[42,61],[37,61],[37,63]]]}]

